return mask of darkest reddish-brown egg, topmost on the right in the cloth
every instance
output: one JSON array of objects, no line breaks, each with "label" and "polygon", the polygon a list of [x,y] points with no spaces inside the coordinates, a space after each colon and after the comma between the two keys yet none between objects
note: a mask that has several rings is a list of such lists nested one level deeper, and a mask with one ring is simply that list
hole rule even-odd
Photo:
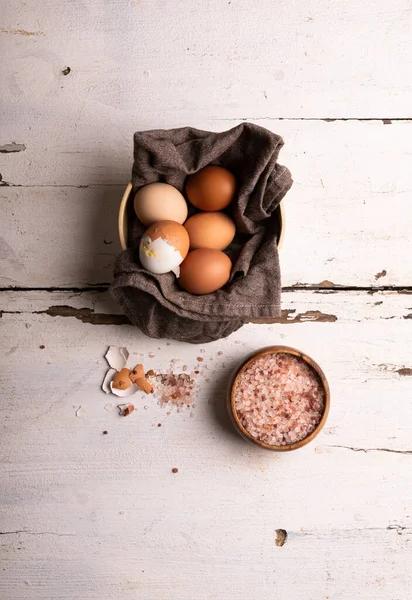
[{"label": "darkest reddish-brown egg, topmost on the right in the cloth", "polygon": [[200,210],[223,210],[232,202],[235,191],[235,176],[213,165],[190,175],[186,182],[187,199]]}]

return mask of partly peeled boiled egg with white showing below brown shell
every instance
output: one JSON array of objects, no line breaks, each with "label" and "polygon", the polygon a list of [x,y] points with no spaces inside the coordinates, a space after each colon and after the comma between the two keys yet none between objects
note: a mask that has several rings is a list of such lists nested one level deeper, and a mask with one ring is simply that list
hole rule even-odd
[{"label": "partly peeled boiled egg with white showing below brown shell", "polygon": [[159,221],[140,240],[139,258],[145,269],[160,275],[174,271],[189,251],[189,234],[175,221]]}]

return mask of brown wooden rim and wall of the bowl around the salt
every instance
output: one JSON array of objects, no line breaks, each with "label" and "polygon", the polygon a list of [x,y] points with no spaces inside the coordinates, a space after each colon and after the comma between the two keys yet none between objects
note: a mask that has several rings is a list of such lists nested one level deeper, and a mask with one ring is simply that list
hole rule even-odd
[{"label": "brown wooden rim and wall of the bowl around the salt", "polygon": [[[241,373],[243,373],[243,371],[245,371],[252,363],[254,363],[257,358],[260,358],[261,356],[265,356],[268,354],[279,354],[279,353],[291,354],[293,356],[297,356],[298,358],[301,358],[302,360],[304,360],[317,373],[317,375],[322,383],[324,392],[325,392],[325,408],[323,411],[323,415],[322,415],[318,425],[316,426],[316,428],[307,437],[303,438],[303,440],[294,442],[293,444],[289,444],[286,446],[272,446],[270,444],[266,444],[265,442],[261,442],[260,440],[253,438],[248,433],[248,431],[243,427],[242,423],[240,422],[239,416],[237,414],[236,408],[235,408],[235,389],[236,389],[236,385],[238,383]],[[228,404],[229,414],[230,414],[232,422],[235,426],[235,429],[245,440],[247,440],[248,442],[251,442],[257,446],[260,446],[261,448],[265,448],[266,450],[272,450],[275,452],[288,452],[289,450],[297,450],[298,448],[302,448],[302,446],[306,446],[306,444],[311,442],[321,431],[321,429],[323,428],[323,426],[326,423],[326,419],[328,418],[329,407],[330,407],[330,390],[329,390],[329,385],[328,385],[328,382],[327,382],[324,372],[312,358],[310,358],[303,352],[300,352],[300,350],[296,350],[295,348],[289,348],[288,346],[268,346],[266,348],[262,348],[261,350],[258,350],[254,354],[252,354],[252,356],[250,356],[248,359],[246,359],[246,361],[244,363],[242,363],[242,365],[239,367],[239,369],[237,369],[236,373],[232,377],[231,382],[229,384],[229,389],[228,389],[228,394],[227,394],[227,404]]]}]

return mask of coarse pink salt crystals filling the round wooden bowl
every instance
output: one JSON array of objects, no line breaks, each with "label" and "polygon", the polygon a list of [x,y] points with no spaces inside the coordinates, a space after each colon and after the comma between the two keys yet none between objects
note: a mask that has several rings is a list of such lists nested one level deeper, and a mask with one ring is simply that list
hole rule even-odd
[{"label": "coarse pink salt crystals filling the round wooden bowl", "polygon": [[268,354],[239,376],[235,408],[252,438],[286,446],[316,428],[325,408],[325,391],[318,374],[301,358]]}]

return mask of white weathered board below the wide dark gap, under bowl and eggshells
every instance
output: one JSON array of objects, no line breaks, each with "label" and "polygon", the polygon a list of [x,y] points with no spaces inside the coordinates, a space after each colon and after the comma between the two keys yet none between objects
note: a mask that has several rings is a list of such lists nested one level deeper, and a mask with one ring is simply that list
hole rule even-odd
[{"label": "white weathered board below the wide dark gap, under bowl and eggshells", "polygon": [[[111,311],[98,293],[1,298],[1,597],[403,600],[409,294],[288,293],[285,307],[316,305],[336,321],[248,325],[204,347],[43,312]],[[233,367],[274,341],[317,360],[332,391],[324,431],[287,456],[246,444],[224,407]],[[204,350],[196,406],[167,415],[142,396],[130,417],[105,410],[117,404],[100,391],[108,344],[160,370],[174,359],[193,367]],[[289,534],[282,548],[278,528]]]}]

